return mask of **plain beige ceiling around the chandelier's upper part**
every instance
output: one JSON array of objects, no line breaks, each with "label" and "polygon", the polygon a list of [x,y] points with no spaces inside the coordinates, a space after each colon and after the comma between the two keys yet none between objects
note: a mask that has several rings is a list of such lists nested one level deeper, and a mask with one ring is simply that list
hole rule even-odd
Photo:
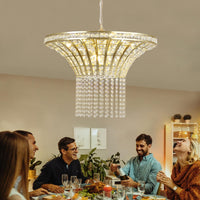
[{"label": "plain beige ceiling around the chandelier's upper part", "polygon": [[[138,58],[127,84],[200,91],[199,0],[104,0],[104,28],[141,32],[158,46]],[[0,73],[74,80],[45,35],[99,29],[98,0],[1,0]]]}]

